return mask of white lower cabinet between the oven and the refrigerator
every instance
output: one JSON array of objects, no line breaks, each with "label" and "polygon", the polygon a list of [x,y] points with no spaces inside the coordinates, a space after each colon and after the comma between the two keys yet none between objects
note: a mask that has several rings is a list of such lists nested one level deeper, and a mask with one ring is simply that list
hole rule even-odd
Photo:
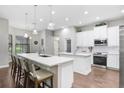
[{"label": "white lower cabinet between the oven and the refrigerator", "polygon": [[107,58],[107,67],[119,69],[119,54],[109,54]]}]

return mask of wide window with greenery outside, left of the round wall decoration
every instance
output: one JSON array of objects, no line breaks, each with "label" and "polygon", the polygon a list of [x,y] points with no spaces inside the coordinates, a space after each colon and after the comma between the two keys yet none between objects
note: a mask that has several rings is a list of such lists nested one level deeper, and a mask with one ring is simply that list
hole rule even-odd
[{"label": "wide window with greenery outside, left of the round wall decoration", "polygon": [[23,36],[16,36],[15,52],[17,53],[29,53],[30,44],[29,38],[24,38]]}]

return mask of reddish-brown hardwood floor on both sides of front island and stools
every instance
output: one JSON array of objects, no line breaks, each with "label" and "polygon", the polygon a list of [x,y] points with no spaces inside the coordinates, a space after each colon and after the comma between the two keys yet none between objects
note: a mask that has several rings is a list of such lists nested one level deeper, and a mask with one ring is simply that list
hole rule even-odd
[{"label": "reddish-brown hardwood floor on both sides of front island and stools", "polygon": [[[9,68],[0,69],[0,87],[12,88],[14,82]],[[117,88],[119,87],[119,72],[92,67],[92,72],[87,75],[74,73],[74,88]]]}]

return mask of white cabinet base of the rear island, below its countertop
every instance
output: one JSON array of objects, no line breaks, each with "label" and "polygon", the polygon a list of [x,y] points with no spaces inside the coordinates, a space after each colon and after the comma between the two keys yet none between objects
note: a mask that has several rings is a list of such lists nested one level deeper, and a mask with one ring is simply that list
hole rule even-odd
[{"label": "white cabinet base of the rear island, below its countertop", "polygon": [[73,71],[88,75],[91,72],[91,56],[76,56],[76,55],[69,55],[69,54],[61,54],[62,57],[69,57],[73,58]]}]

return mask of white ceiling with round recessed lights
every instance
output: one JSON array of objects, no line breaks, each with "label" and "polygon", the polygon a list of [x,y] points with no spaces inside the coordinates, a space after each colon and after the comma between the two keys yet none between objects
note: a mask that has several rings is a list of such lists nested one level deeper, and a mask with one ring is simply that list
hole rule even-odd
[{"label": "white ceiling with round recessed lights", "polygon": [[[55,28],[58,29],[62,26],[80,26],[89,23],[109,20],[124,16],[121,10],[124,6],[121,5],[53,5],[55,15],[53,15],[53,22]],[[88,11],[85,15],[84,11]],[[34,6],[32,5],[0,5],[0,17],[7,18],[11,26],[17,28],[25,28],[25,13],[28,13],[27,29],[33,29],[34,21]],[[99,16],[100,19],[96,20]],[[69,21],[65,21],[65,17],[69,18]],[[43,19],[40,22],[40,18]],[[37,6],[37,29],[46,29],[50,20],[50,9],[47,5]],[[79,24],[79,22],[82,24]]]}]

